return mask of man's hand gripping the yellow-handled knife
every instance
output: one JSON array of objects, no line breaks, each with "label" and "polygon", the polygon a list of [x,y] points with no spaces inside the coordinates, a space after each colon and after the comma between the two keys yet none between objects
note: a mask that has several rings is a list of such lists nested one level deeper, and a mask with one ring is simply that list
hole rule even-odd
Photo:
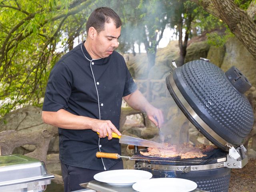
[{"label": "man's hand gripping the yellow-handled knife", "polygon": [[108,136],[108,140],[112,139],[112,132],[115,132],[121,136],[121,133],[110,120],[93,119],[91,129],[95,132],[98,132],[100,138]]}]

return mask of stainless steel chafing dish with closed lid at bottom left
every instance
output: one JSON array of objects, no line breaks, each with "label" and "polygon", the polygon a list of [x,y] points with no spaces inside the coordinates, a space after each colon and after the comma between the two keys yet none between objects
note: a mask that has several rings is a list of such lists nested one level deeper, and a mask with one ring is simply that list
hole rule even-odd
[{"label": "stainless steel chafing dish with closed lid at bottom left", "polygon": [[42,192],[53,178],[44,162],[21,154],[0,156],[1,192]]}]

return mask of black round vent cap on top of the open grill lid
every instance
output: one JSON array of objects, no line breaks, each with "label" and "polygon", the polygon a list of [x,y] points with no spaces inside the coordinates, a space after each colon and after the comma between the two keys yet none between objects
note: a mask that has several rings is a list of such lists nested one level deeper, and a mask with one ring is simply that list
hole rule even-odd
[{"label": "black round vent cap on top of the open grill lid", "polygon": [[252,84],[250,84],[246,76],[244,76],[242,72],[234,66],[227,70],[225,75],[231,84],[242,94],[252,87]]}]

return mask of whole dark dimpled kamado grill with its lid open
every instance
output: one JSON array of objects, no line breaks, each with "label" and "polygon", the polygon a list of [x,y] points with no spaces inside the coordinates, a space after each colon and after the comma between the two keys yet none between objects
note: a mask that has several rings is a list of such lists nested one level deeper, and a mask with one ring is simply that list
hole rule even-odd
[{"label": "whole dark dimpled kamado grill with its lid open", "polygon": [[174,68],[166,85],[188,120],[218,148],[202,158],[181,159],[143,156],[135,147],[132,157],[116,154],[112,158],[135,160],[134,168],[151,172],[153,178],[184,178],[196,182],[201,190],[228,192],[231,168],[243,168],[248,162],[242,142],[254,122],[244,96],[250,82],[235,67],[224,73],[200,58]]}]

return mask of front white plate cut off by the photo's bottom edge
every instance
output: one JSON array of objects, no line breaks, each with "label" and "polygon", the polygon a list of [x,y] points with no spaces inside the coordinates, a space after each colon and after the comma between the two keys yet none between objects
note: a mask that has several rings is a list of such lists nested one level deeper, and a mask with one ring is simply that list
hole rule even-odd
[{"label": "front white plate cut off by the photo's bottom edge", "polygon": [[187,179],[156,178],[136,182],[132,188],[138,192],[190,192],[197,188],[197,184]]}]

